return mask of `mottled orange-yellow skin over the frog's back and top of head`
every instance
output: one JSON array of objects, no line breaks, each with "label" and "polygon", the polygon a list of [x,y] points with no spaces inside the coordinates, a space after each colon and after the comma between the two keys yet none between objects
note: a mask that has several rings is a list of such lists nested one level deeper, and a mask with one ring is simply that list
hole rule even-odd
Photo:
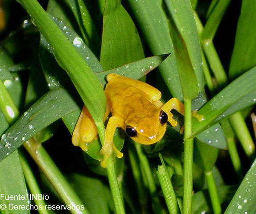
[{"label": "mottled orange-yellow skin over the frog's back and top of head", "polygon": [[[119,117],[124,122],[121,128],[125,130],[126,125],[129,125],[141,135],[132,137],[132,140],[140,144],[154,144],[162,138],[166,123],[162,125],[159,122],[161,108],[147,99],[143,91],[123,83],[109,82],[105,94],[112,116]],[[161,135],[158,134],[158,128],[164,131]]]}]

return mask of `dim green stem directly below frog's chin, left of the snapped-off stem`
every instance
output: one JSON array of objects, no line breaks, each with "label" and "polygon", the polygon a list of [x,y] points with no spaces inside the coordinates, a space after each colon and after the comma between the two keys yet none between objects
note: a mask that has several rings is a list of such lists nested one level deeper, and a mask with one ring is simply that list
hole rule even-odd
[{"label": "dim green stem directly below frog's chin, left of the snapped-off stem", "polygon": [[154,207],[155,213],[161,214],[161,213],[163,213],[163,210],[162,210],[162,206],[160,204],[159,198],[156,197],[157,188],[156,188],[156,185],[155,185],[155,182],[153,179],[153,175],[151,173],[149,161],[147,159],[147,156],[142,151],[141,144],[135,143],[135,148],[136,148],[136,151],[137,151],[139,159],[140,159],[141,169],[143,170],[143,172],[145,174],[145,178],[149,185],[149,193],[151,195],[151,200],[153,202],[153,207]]}]

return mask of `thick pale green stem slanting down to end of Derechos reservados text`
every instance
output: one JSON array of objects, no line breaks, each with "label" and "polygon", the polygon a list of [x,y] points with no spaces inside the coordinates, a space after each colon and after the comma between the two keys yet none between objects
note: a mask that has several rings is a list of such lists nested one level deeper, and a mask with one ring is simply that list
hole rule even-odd
[{"label": "thick pale green stem slanting down to end of Derechos reservados text", "polygon": [[[54,164],[48,153],[41,144],[37,144],[33,138],[26,141],[24,147],[36,161],[37,165],[48,178],[54,189],[61,196],[66,205],[83,205],[83,202],[78,198],[74,190],[70,187],[65,177],[59,171],[58,167]],[[89,214],[87,209],[84,210],[70,210],[73,214],[84,213]]]}]

